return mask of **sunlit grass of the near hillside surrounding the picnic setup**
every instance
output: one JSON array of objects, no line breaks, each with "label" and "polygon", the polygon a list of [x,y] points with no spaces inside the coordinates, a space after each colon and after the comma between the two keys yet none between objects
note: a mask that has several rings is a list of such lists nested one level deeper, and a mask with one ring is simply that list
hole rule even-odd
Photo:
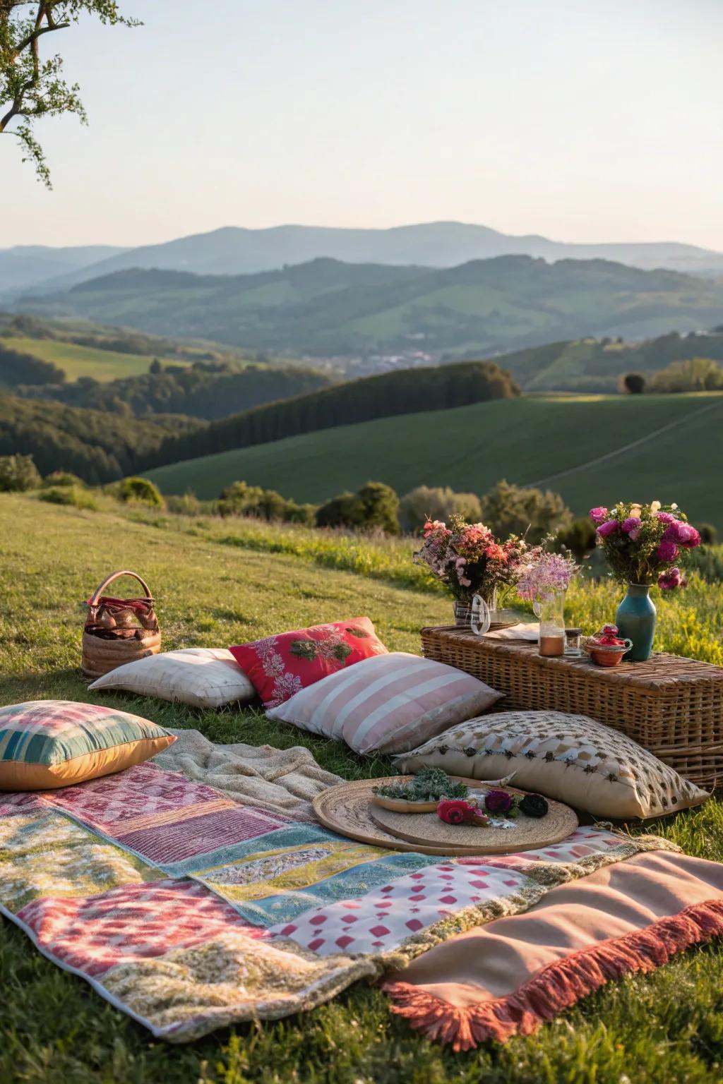
[{"label": "sunlit grass of the near hillside surrounding the picnic setup", "polygon": [[[93,698],[162,724],[194,726],[216,741],[305,745],[323,766],[348,778],[385,772],[384,758],[357,757],[257,711],[202,712],[121,694],[89,695],[77,669],[81,599],[107,571],[131,567],[158,597],[166,648],[220,646],[366,612],[389,647],[417,651],[419,627],[447,621],[450,604],[419,583],[401,585],[408,543],[389,545],[385,570],[380,540],[325,535],[320,551],[318,535],[299,528],[144,519],[105,505],[91,512],[0,495],[0,702]],[[271,551],[274,534],[281,552]],[[617,596],[607,582],[580,588],[571,594],[570,618],[588,628],[602,622]],[[658,646],[723,662],[723,585],[694,583],[659,609]],[[716,801],[648,830],[723,860],[723,806]],[[0,928],[0,982],[3,1084],[712,1084],[723,1077],[718,945],[651,976],[614,983],[534,1036],[464,1055],[418,1038],[390,1015],[377,990],[363,984],[313,1012],[169,1046],[40,956],[10,922]]]}]

